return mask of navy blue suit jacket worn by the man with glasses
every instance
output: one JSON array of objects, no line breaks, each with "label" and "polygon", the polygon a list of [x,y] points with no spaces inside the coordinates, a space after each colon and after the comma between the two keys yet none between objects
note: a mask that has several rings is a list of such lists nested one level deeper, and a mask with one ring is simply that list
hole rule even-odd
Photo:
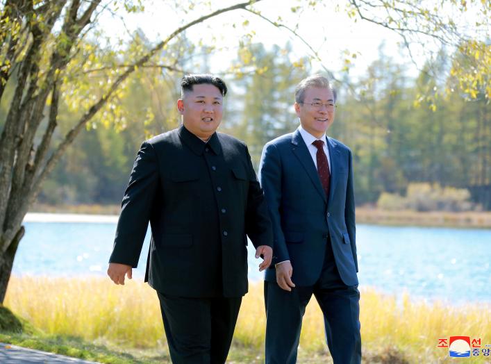
[{"label": "navy blue suit jacket worn by the man with glasses", "polygon": [[322,272],[330,236],[342,281],[347,286],[358,284],[351,150],[333,138],[327,138],[326,145],[331,159],[329,196],[298,129],[263,149],[259,179],[274,233],[267,281],[276,282],[275,263],[290,260],[293,283],[312,286]]}]

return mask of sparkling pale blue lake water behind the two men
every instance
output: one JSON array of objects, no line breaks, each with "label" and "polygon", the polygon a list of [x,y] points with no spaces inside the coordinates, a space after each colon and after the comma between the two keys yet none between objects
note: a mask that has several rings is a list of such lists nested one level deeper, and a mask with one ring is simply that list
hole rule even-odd
[{"label": "sparkling pale blue lake water behind the two men", "polygon": [[[115,222],[25,222],[13,274],[105,276]],[[491,230],[357,226],[360,287],[451,304],[491,303]],[[149,234],[133,279],[142,279]],[[259,260],[249,245],[249,279]]]}]

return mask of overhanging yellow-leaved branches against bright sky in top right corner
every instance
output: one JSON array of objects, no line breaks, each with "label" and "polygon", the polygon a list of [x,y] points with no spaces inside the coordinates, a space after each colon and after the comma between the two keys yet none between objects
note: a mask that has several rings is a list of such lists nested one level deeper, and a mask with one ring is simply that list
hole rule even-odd
[{"label": "overhanging yellow-leaved branches against bright sky in top right corner", "polygon": [[[490,10],[491,2],[486,0],[349,1],[346,9],[349,17],[355,21],[362,19],[401,35],[401,44],[406,47],[413,61],[413,51],[417,47],[431,49],[438,44],[438,48],[451,49],[451,74],[457,80],[456,87],[437,85],[435,94],[424,94],[431,101],[435,101],[438,94],[447,95],[457,90],[469,99],[478,99],[478,94],[482,93],[489,101]],[[436,58],[438,53],[429,60],[435,61]],[[438,72],[433,74],[431,69],[428,72],[438,77]],[[431,108],[435,108],[434,102]]]}]

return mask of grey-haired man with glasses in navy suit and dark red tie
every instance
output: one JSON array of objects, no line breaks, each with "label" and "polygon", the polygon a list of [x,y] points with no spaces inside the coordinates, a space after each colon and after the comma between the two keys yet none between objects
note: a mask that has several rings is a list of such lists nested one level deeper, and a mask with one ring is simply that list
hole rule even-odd
[{"label": "grey-haired man with glasses in navy suit and dark red tie", "polygon": [[326,137],[335,101],[326,78],[305,78],[295,90],[299,128],[263,149],[260,183],[274,231],[265,274],[267,364],[297,361],[312,295],[334,363],[361,361],[351,150]]}]

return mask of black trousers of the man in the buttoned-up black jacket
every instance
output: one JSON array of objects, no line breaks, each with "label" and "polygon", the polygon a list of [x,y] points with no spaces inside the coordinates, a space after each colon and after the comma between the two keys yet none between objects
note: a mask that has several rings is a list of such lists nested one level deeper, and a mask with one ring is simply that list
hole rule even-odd
[{"label": "black trousers of the man in the buttoned-up black jacket", "polygon": [[242,297],[157,295],[172,363],[225,363]]}]

